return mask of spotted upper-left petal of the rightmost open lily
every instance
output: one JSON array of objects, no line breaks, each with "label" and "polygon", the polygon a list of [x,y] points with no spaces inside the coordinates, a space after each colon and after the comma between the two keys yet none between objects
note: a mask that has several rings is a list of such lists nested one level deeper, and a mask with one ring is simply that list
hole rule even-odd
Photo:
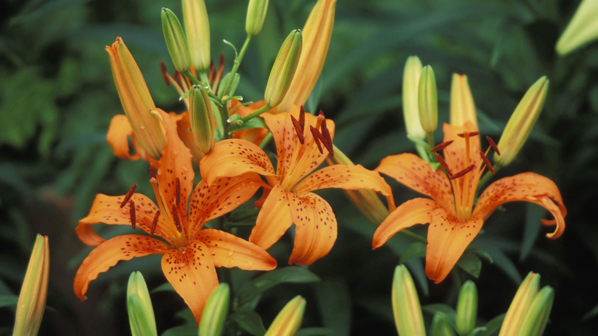
[{"label": "spotted upper-left petal of the rightmost open lily", "polygon": [[440,170],[432,170],[415,154],[389,155],[375,169],[418,193],[432,197],[446,209],[454,209],[453,190],[449,178]]}]

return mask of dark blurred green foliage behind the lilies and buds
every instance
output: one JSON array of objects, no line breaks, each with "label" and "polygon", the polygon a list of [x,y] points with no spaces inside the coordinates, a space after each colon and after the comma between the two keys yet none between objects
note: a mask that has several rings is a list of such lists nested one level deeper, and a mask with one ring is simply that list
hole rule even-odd
[{"label": "dark blurred green foliage behind the lilies and buds", "polygon": [[[263,96],[274,56],[286,34],[302,28],[313,0],[271,0],[263,32],[240,67],[237,91]],[[553,179],[569,215],[565,234],[549,240],[535,205],[511,203],[484,224],[474,245],[487,251],[479,279],[479,320],[504,313],[529,271],[556,292],[547,335],[595,335],[598,317],[598,43],[566,57],[554,52],[579,1],[338,0],[334,33],[320,81],[307,103],[335,120],[335,144],[355,163],[374,168],[390,154],[413,151],[401,115],[402,68],[416,54],[437,75],[439,118],[448,119],[450,76],[467,74],[483,135],[500,137],[526,89],[550,78],[544,111],[517,159],[498,177],[533,171]],[[212,56],[233,59],[227,39],[245,37],[246,1],[206,0]],[[164,84],[158,62],[172,64],[159,10],[181,17],[179,1],[5,0],[0,3],[0,295],[18,295],[36,233],[50,236],[51,270],[41,335],[129,335],[126,281],[141,270],[150,289],[165,282],[159,256],[114,267],[91,283],[89,300],[72,291],[75,271],[89,253],[75,235],[96,193],[123,194],[147,178],[146,164],[115,158],[105,141],[108,123],[121,113],[103,47],[122,36],[135,56],[157,106],[182,111]],[[441,134],[437,134],[440,139]],[[145,180],[143,180],[145,181]],[[390,182],[390,181],[389,181]],[[390,182],[397,203],[415,194]],[[140,185],[141,192],[151,190]],[[150,193],[151,194],[151,193]],[[309,269],[322,282],[271,289],[257,306],[268,326],[294,295],[307,298],[304,327],[326,326],[335,335],[395,334],[390,283],[401,249],[371,250],[374,225],[341,191],[322,193],[338,219],[331,253]],[[419,233],[425,234],[425,227]],[[105,236],[122,230],[108,228]],[[246,234],[246,233],[244,233]],[[286,265],[292,240],[269,252]],[[454,306],[458,270],[440,285],[423,277],[422,258],[408,263],[422,304]],[[242,281],[251,272],[233,271]],[[158,332],[185,323],[174,292],[152,294]],[[176,313],[177,311],[181,311]],[[431,314],[424,313],[429,321]],[[585,315],[585,316],[584,316]],[[0,333],[11,333],[14,306],[0,307]]]}]

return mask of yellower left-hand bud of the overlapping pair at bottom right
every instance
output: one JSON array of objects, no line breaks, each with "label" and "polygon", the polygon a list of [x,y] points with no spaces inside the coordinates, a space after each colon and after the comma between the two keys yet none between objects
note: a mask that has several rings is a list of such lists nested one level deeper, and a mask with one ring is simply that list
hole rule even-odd
[{"label": "yellower left-hand bud of the overlapping pair at bottom right", "polygon": [[505,319],[502,321],[501,331],[499,336],[511,336],[517,334],[520,329],[523,317],[529,310],[533,299],[538,293],[540,284],[540,274],[530,272],[526,278],[521,282],[515,297],[511,301],[511,306],[505,314]]}]

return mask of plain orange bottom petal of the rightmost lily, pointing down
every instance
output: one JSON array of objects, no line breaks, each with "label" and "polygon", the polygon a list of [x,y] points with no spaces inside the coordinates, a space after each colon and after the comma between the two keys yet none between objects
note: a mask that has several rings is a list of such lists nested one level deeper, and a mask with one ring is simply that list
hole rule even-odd
[{"label": "plain orange bottom petal of the rightmost lily, pointing down", "polygon": [[444,280],[480,232],[482,224],[483,220],[479,217],[462,222],[441,207],[434,210],[428,227],[426,275],[435,283]]}]

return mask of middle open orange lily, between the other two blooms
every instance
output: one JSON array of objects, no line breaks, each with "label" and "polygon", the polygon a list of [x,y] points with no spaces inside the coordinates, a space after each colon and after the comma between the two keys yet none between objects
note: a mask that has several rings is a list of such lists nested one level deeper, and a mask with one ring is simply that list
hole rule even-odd
[{"label": "middle open orange lily, between the other two blooms", "polygon": [[222,177],[248,172],[265,176],[272,189],[249,241],[268,249],[295,224],[295,245],[289,264],[309,265],[327,255],[337,237],[334,213],[327,201],[312,191],[370,189],[382,193],[391,203],[392,195],[379,173],[359,164],[335,164],[309,175],[327,157],[324,150],[332,154],[334,123],[322,113],[316,117],[306,114],[303,108],[298,110],[295,107],[291,112],[261,115],[276,143],[276,172],[266,153],[243,139],[217,142],[200,161],[200,172],[208,185]]}]

